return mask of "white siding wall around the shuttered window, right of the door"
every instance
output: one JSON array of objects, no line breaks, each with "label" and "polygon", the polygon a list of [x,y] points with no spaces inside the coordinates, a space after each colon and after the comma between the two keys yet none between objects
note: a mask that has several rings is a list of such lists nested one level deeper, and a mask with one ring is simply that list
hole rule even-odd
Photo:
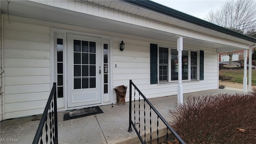
[{"label": "white siding wall around the shuttered window, right of the door", "polygon": [[[124,51],[118,52],[119,40],[114,38],[113,86],[125,85],[128,87],[126,101],[129,101],[130,79],[147,98],[177,94],[178,82],[150,84],[150,43],[157,43],[157,41],[124,39]],[[176,45],[170,42],[165,43]],[[189,48],[190,46],[187,47]],[[204,50],[204,80],[183,82],[184,93],[218,88],[218,54],[207,49],[201,50]],[[115,93],[114,103],[116,103]]]}]

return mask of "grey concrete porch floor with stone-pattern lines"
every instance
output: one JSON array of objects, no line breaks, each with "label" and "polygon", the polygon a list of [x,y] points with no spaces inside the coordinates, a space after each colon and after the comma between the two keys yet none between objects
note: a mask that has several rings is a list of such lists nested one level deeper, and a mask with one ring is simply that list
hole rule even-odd
[{"label": "grey concrete porch floor with stone-pattern lines", "polygon": [[[226,93],[243,93],[241,91],[215,89],[205,90],[200,92],[193,92],[184,94],[184,100],[188,96],[202,96],[206,94],[226,94]],[[177,96],[166,96],[161,98],[152,98],[149,101],[166,119],[167,122],[171,120],[168,117],[168,110],[174,109],[176,106]],[[133,105],[132,105],[133,107]],[[128,130],[129,119],[129,103],[125,106],[106,105],[100,106],[104,113],[76,118],[72,120],[63,121],[64,112],[58,112],[58,142],[59,144],[138,144],[139,139],[136,132],[132,128],[132,132]],[[144,110],[141,105],[141,110]],[[146,112],[149,112],[149,106],[146,106]],[[153,113],[153,112],[152,112]],[[137,113],[136,113],[137,114]],[[146,122],[149,123],[149,113],[146,114]],[[141,112],[144,123],[144,114]],[[138,117],[137,121],[138,122]],[[31,144],[40,120],[31,121],[32,117],[17,118],[11,120],[3,120],[0,122],[0,138],[1,144]],[[132,116],[134,120],[134,115]],[[138,124],[137,124],[138,125]],[[136,125],[136,126],[137,126]],[[156,133],[156,116],[152,116],[153,130]],[[149,131],[148,124],[146,124],[146,132]],[[159,127],[164,131],[164,126]],[[141,130],[144,130],[141,128]],[[144,132],[141,132],[144,134]],[[146,136],[147,137],[147,136]],[[18,142],[3,142],[2,140],[16,139]],[[147,138],[148,139],[148,138]]]}]

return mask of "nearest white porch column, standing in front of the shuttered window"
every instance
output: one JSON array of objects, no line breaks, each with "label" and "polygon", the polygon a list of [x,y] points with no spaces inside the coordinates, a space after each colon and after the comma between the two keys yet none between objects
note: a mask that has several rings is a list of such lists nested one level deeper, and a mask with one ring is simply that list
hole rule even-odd
[{"label": "nearest white porch column, standing in front of the shuttered window", "polygon": [[182,86],[182,50],[183,50],[183,37],[179,36],[177,39],[178,50],[178,87],[177,97],[178,103],[183,104],[183,86]]}]

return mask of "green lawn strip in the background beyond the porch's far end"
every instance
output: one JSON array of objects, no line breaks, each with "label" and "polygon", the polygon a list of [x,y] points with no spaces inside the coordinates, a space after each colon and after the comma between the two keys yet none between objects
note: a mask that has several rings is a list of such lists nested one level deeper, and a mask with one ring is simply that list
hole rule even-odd
[{"label": "green lawn strip in the background beyond the porch's far end", "polygon": [[[233,77],[228,82],[243,83],[244,70],[220,70],[220,75]],[[247,70],[247,84],[248,84],[248,70]],[[256,70],[252,70],[252,86],[256,86]]]}]

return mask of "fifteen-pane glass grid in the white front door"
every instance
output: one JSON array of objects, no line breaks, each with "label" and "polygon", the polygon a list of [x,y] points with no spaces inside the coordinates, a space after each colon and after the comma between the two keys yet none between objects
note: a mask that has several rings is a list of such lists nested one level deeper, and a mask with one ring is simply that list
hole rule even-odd
[{"label": "fifteen-pane glass grid in the white front door", "polygon": [[74,40],[74,89],[96,88],[96,42]]}]

